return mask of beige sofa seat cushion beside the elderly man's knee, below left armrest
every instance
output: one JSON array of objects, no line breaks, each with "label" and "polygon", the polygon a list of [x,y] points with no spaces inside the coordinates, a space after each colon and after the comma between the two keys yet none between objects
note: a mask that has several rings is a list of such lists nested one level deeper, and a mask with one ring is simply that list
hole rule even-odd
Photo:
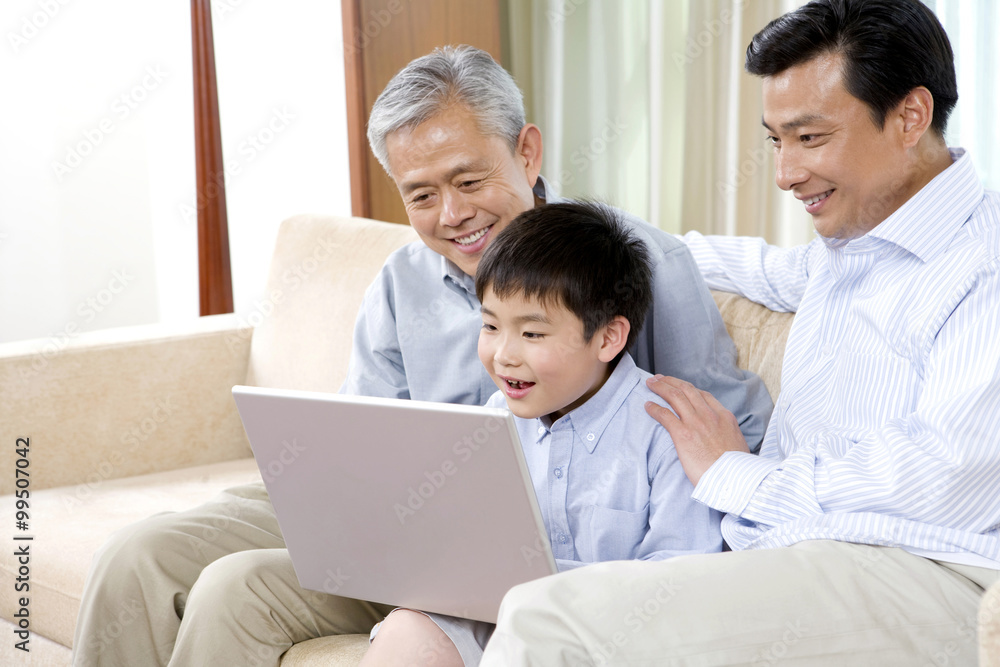
[{"label": "beige sofa seat cushion beside the elderly man's knee, below left armrest", "polygon": [[[95,485],[46,489],[31,494],[31,631],[72,645],[83,584],[94,554],[119,528],[152,514],[198,505],[220,490],[260,481],[252,458],[111,479]],[[4,525],[14,525],[14,499],[0,498]],[[0,555],[0,590],[14,591],[14,549]],[[0,616],[12,620],[14,595],[0,596]]]}]

